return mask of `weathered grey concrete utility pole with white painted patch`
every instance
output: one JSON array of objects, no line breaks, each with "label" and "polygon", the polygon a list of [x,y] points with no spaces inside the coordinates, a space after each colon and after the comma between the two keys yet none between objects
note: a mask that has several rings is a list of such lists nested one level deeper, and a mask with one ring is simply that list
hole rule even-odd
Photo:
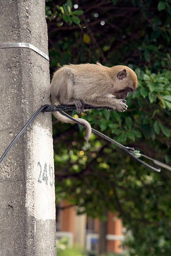
[{"label": "weathered grey concrete utility pole with white painted patch", "polygon": [[[48,54],[45,0],[0,1],[0,43]],[[49,63],[32,49],[0,49],[0,156],[48,104]],[[40,113],[0,164],[0,256],[54,256],[55,191],[51,113]]]}]

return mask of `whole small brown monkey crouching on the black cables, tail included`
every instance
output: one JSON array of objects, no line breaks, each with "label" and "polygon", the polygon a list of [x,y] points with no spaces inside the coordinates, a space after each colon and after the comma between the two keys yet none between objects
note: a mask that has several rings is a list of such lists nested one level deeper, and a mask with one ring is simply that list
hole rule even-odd
[{"label": "whole small brown monkey crouching on the black cables, tail included", "polygon": [[[138,81],[135,72],[127,66],[106,67],[96,64],[69,64],[54,72],[50,94],[52,105],[75,105],[78,113],[84,112],[84,104],[94,107],[108,107],[124,112],[125,98],[133,92]],[[64,123],[74,123],[59,112],[54,116]],[[85,140],[89,141],[91,125],[83,118],[77,118],[85,126]]]}]

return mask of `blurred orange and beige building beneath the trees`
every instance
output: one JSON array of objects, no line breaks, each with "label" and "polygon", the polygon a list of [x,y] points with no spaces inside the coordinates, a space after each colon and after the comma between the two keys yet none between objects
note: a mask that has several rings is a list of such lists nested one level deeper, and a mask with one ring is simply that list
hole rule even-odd
[{"label": "blurred orange and beige building beneath the trees", "polygon": [[[77,215],[76,207],[69,207],[63,200],[60,207],[64,210],[56,211],[56,238],[67,237],[69,245],[79,244],[87,251],[96,251],[99,237],[99,219],[93,219],[86,214]],[[113,213],[107,214],[107,251],[122,253],[123,225],[121,219]]]}]

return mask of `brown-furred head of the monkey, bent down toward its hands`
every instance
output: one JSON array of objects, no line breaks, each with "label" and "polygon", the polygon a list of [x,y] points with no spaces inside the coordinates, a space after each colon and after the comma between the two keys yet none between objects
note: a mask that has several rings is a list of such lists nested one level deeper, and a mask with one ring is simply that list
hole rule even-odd
[{"label": "brown-furred head of the monkey, bent down toward its hands", "polygon": [[115,73],[115,77],[113,77],[115,87],[112,95],[118,99],[125,99],[128,96],[128,92],[133,92],[137,88],[137,75],[132,69],[122,65],[112,67],[111,69],[112,73]]}]

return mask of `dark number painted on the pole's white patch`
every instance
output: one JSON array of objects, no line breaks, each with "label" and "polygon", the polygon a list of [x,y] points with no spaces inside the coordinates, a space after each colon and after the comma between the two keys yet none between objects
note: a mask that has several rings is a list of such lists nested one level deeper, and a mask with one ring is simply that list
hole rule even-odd
[{"label": "dark number painted on the pole's white patch", "polygon": [[39,174],[39,177],[38,177],[38,182],[42,183],[42,181],[44,181],[46,185],[48,185],[48,182],[49,182],[49,184],[52,187],[52,185],[54,184],[54,170],[51,167],[51,165],[49,164],[48,171],[47,171],[47,164],[46,163],[44,164],[43,171],[42,171],[42,167],[41,167],[40,162],[38,162],[37,166],[40,167],[40,174]]}]

